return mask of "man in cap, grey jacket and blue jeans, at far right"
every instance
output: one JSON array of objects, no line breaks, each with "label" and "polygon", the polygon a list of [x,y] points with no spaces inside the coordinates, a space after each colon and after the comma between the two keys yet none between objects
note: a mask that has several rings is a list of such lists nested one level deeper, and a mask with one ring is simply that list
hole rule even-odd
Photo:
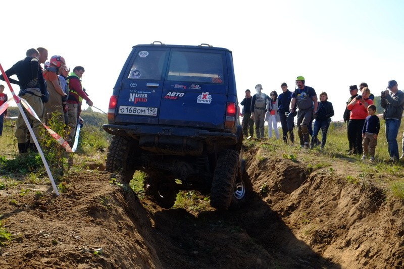
[{"label": "man in cap, grey jacket and blue jeans, at far right", "polygon": [[[380,104],[384,109],[383,118],[386,120],[388,153],[390,161],[394,162],[398,159],[397,134],[401,123],[402,111],[404,110],[404,93],[398,90],[397,81],[390,80],[386,90],[382,91],[380,97]],[[400,159],[402,158],[403,155],[401,155]]]}]

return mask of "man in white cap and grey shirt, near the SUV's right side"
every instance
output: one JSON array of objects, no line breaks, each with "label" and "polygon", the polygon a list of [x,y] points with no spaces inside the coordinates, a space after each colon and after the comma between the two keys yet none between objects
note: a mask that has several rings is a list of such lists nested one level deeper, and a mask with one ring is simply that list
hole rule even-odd
[{"label": "man in white cap and grey shirt, near the SUV's right side", "polygon": [[267,100],[269,101],[269,96],[262,92],[262,85],[256,85],[257,93],[252,96],[251,100],[251,119],[254,119],[254,124],[256,125],[256,135],[258,139],[264,138],[264,123],[265,123],[265,113],[267,109]]}]

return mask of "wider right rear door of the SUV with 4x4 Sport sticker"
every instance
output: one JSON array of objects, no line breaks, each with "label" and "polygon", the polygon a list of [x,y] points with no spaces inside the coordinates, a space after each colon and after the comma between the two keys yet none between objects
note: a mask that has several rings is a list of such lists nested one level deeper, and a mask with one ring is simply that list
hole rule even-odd
[{"label": "wider right rear door of the SUV with 4x4 Sport sticker", "polygon": [[224,50],[172,48],[159,124],[223,130],[227,103]]}]

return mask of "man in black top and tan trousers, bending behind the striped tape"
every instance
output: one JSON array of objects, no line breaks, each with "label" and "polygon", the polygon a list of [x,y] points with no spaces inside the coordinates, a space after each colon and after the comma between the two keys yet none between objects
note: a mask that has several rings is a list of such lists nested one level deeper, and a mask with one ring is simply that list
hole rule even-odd
[{"label": "man in black top and tan trousers, bending behind the striped tape", "polygon": [[[27,57],[18,61],[5,73],[11,83],[20,86],[20,92],[18,95],[31,105],[36,115],[42,120],[44,117],[44,106],[42,100],[47,101],[47,91],[38,57],[38,50],[30,48],[27,50]],[[13,75],[17,75],[18,81],[10,78]],[[3,75],[0,76],[0,79],[5,80]],[[39,128],[42,124],[25,109],[24,113],[28,119],[28,124],[32,126],[35,136],[38,137]],[[20,113],[16,121],[15,131],[18,151],[20,153],[27,152],[28,148],[34,151],[36,150],[34,143],[27,145],[27,134],[28,128]]]}]

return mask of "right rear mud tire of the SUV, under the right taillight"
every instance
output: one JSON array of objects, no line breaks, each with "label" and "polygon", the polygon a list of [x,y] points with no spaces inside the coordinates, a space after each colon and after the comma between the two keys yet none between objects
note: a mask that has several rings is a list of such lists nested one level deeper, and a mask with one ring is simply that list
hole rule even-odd
[{"label": "right rear mud tire of the SUV, under the right taillight", "polygon": [[226,149],[217,159],[212,180],[211,206],[219,210],[227,210],[233,197],[233,187],[240,167],[239,153]]}]

